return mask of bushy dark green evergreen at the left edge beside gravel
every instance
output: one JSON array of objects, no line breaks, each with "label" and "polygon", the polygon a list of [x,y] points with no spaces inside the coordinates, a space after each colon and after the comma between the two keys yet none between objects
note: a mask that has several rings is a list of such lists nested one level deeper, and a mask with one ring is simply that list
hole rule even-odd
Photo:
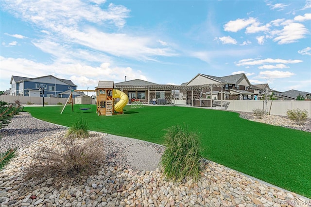
[{"label": "bushy dark green evergreen at the left edge beside gravel", "polygon": [[0,129],[7,126],[14,115],[23,110],[20,104],[7,104],[0,101]]}]

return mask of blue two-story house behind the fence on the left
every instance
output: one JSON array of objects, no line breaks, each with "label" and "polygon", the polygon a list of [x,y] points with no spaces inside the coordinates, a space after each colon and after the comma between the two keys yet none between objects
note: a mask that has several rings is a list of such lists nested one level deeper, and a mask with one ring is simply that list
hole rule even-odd
[{"label": "blue two-story house behind the fence on the left", "polygon": [[[57,78],[52,75],[36,78],[12,76],[11,77],[12,96],[31,97],[60,97],[68,98],[71,90],[76,90],[77,86],[67,79]],[[85,95],[83,92],[74,92],[73,96]]]}]

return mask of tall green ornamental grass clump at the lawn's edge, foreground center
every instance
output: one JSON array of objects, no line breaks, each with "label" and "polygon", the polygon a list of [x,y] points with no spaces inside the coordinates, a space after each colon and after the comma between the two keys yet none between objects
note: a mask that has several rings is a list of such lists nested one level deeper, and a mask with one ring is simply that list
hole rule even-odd
[{"label": "tall green ornamental grass clump at the lawn's edge, foreground center", "polygon": [[166,130],[166,149],[161,157],[164,175],[173,181],[200,178],[201,150],[196,133],[187,126],[172,126]]}]

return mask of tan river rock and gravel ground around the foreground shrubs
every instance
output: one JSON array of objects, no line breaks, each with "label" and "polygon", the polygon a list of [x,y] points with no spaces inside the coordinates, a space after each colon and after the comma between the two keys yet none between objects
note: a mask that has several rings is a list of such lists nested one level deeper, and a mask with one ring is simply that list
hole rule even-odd
[{"label": "tan river rock and gravel ground around the foreground shrubs", "polygon": [[[248,116],[250,114],[242,114],[243,118]],[[309,127],[306,129],[308,131]],[[0,152],[18,147],[17,156],[0,171],[1,207],[311,206],[310,199],[208,160],[202,160],[199,182],[168,181],[160,168],[156,168],[164,147],[134,139],[124,142],[124,139],[112,139],[95,132],[91,132],[90,138],[102,138],[106,149],[105,160],[97,172],[80,180],[71,179],[59,188],[52,185],[51,177],[26,182],[23,175],[33,162],[32,155],[44,146],[59,148],[57,140],[66,130],[24,112],[1,129]],[[135,153],[128,151],[133,148],[132,141],[137,146]],[[146,166],[148,162],[153,165]]]}]

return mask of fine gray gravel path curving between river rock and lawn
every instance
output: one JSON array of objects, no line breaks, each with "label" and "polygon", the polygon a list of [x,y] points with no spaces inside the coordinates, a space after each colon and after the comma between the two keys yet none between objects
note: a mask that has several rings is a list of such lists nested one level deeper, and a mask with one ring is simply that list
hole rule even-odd
[{"label": "fine gray gravel path curving between river rock and lawn", "polygon": [[[66,133],[67,129],[67,127],[35,119],[30,113],[21,112],[13,117],[8,126],[0,129],[0,153],[11,148],[30,145],[34,141],[50,137],[56,132]],[[164,151],[163,146],[133,138],[101,134],[105,135],[107,162],[109,162],[109,157],[120,157],[119,164],[133,170],[154,171],[158,167],[161,154]]]}]

